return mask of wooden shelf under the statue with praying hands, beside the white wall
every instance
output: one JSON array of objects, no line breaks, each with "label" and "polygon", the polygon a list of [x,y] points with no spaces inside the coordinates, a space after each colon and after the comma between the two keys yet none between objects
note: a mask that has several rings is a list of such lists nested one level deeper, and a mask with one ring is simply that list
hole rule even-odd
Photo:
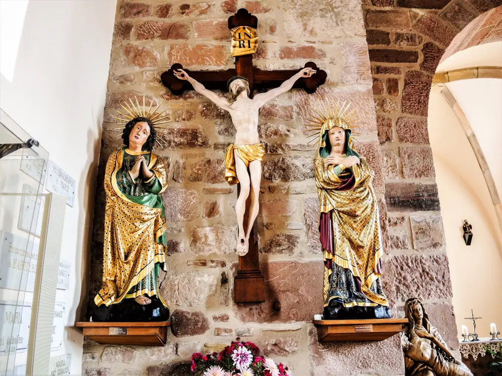
[{"label": "wooden shelf under the statue with praying hands, beside the white wall", "polygon": [[164,346],[170,321],[159,322],[77,322],[83,335],[101,344]]}]

